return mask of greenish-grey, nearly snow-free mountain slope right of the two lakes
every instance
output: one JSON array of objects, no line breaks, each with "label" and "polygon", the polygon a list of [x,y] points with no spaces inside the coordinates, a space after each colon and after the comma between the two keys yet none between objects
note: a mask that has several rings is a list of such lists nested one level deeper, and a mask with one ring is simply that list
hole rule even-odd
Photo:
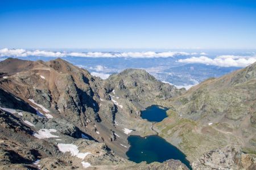
[{"label": "greenish-grey, nearly snow-free mountain slope right of the two lakes", "polygon": [[256,63],[210,78],[168,101],[169,117],[154,126],[193,161],[214,148],[241,146],[256,154]]}]

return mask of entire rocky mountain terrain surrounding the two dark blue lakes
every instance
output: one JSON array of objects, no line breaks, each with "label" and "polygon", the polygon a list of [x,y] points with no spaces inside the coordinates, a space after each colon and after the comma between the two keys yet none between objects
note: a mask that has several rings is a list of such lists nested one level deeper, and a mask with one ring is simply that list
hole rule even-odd
[{"label": "entire rocky mountain terrain surrounding the two dark blue lakes", "polygon": [[[256,63],[185,91],[144,70],[102,80],[63,59],[6,59],[0,62],[0,168],[187,169],[177,160],[126,159],[128,135],[157,132],[195,169],[253,169],[255,77]],[[171,108],[154,125],[140,117],[152,104]]]}]

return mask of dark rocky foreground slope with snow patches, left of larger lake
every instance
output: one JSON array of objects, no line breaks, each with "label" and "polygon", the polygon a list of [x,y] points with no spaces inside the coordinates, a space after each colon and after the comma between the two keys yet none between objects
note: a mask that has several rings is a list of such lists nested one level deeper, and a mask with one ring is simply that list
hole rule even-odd
[{"label": "dark rocky foreground slope with snow patches, left of larger lake", "polygon": [[177,160],[130,162],[63,118],[2,108],[0,131],[0,169],[188,169]]}]

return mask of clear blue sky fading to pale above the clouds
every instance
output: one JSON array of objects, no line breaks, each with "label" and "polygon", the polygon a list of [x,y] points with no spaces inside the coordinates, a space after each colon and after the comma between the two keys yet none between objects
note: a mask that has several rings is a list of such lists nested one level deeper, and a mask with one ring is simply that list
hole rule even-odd
[{"label": "clear blue sky fading to pale above the clouds", "polygon": [[256,49],[256,1],[0,1],[0,48]]}]

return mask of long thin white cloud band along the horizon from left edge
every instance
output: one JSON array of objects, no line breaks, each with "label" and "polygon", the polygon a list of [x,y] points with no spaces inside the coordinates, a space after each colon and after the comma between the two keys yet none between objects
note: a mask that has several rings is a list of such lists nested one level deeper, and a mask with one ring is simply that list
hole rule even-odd
[{"label": "long thin white cloud band along the horizon from left edge", "polygon": [[46,50],[0,49],[0,57],[93,57],[93,58],[167,58],[175,56],[188,56],[186,52],[52,52]]}]

